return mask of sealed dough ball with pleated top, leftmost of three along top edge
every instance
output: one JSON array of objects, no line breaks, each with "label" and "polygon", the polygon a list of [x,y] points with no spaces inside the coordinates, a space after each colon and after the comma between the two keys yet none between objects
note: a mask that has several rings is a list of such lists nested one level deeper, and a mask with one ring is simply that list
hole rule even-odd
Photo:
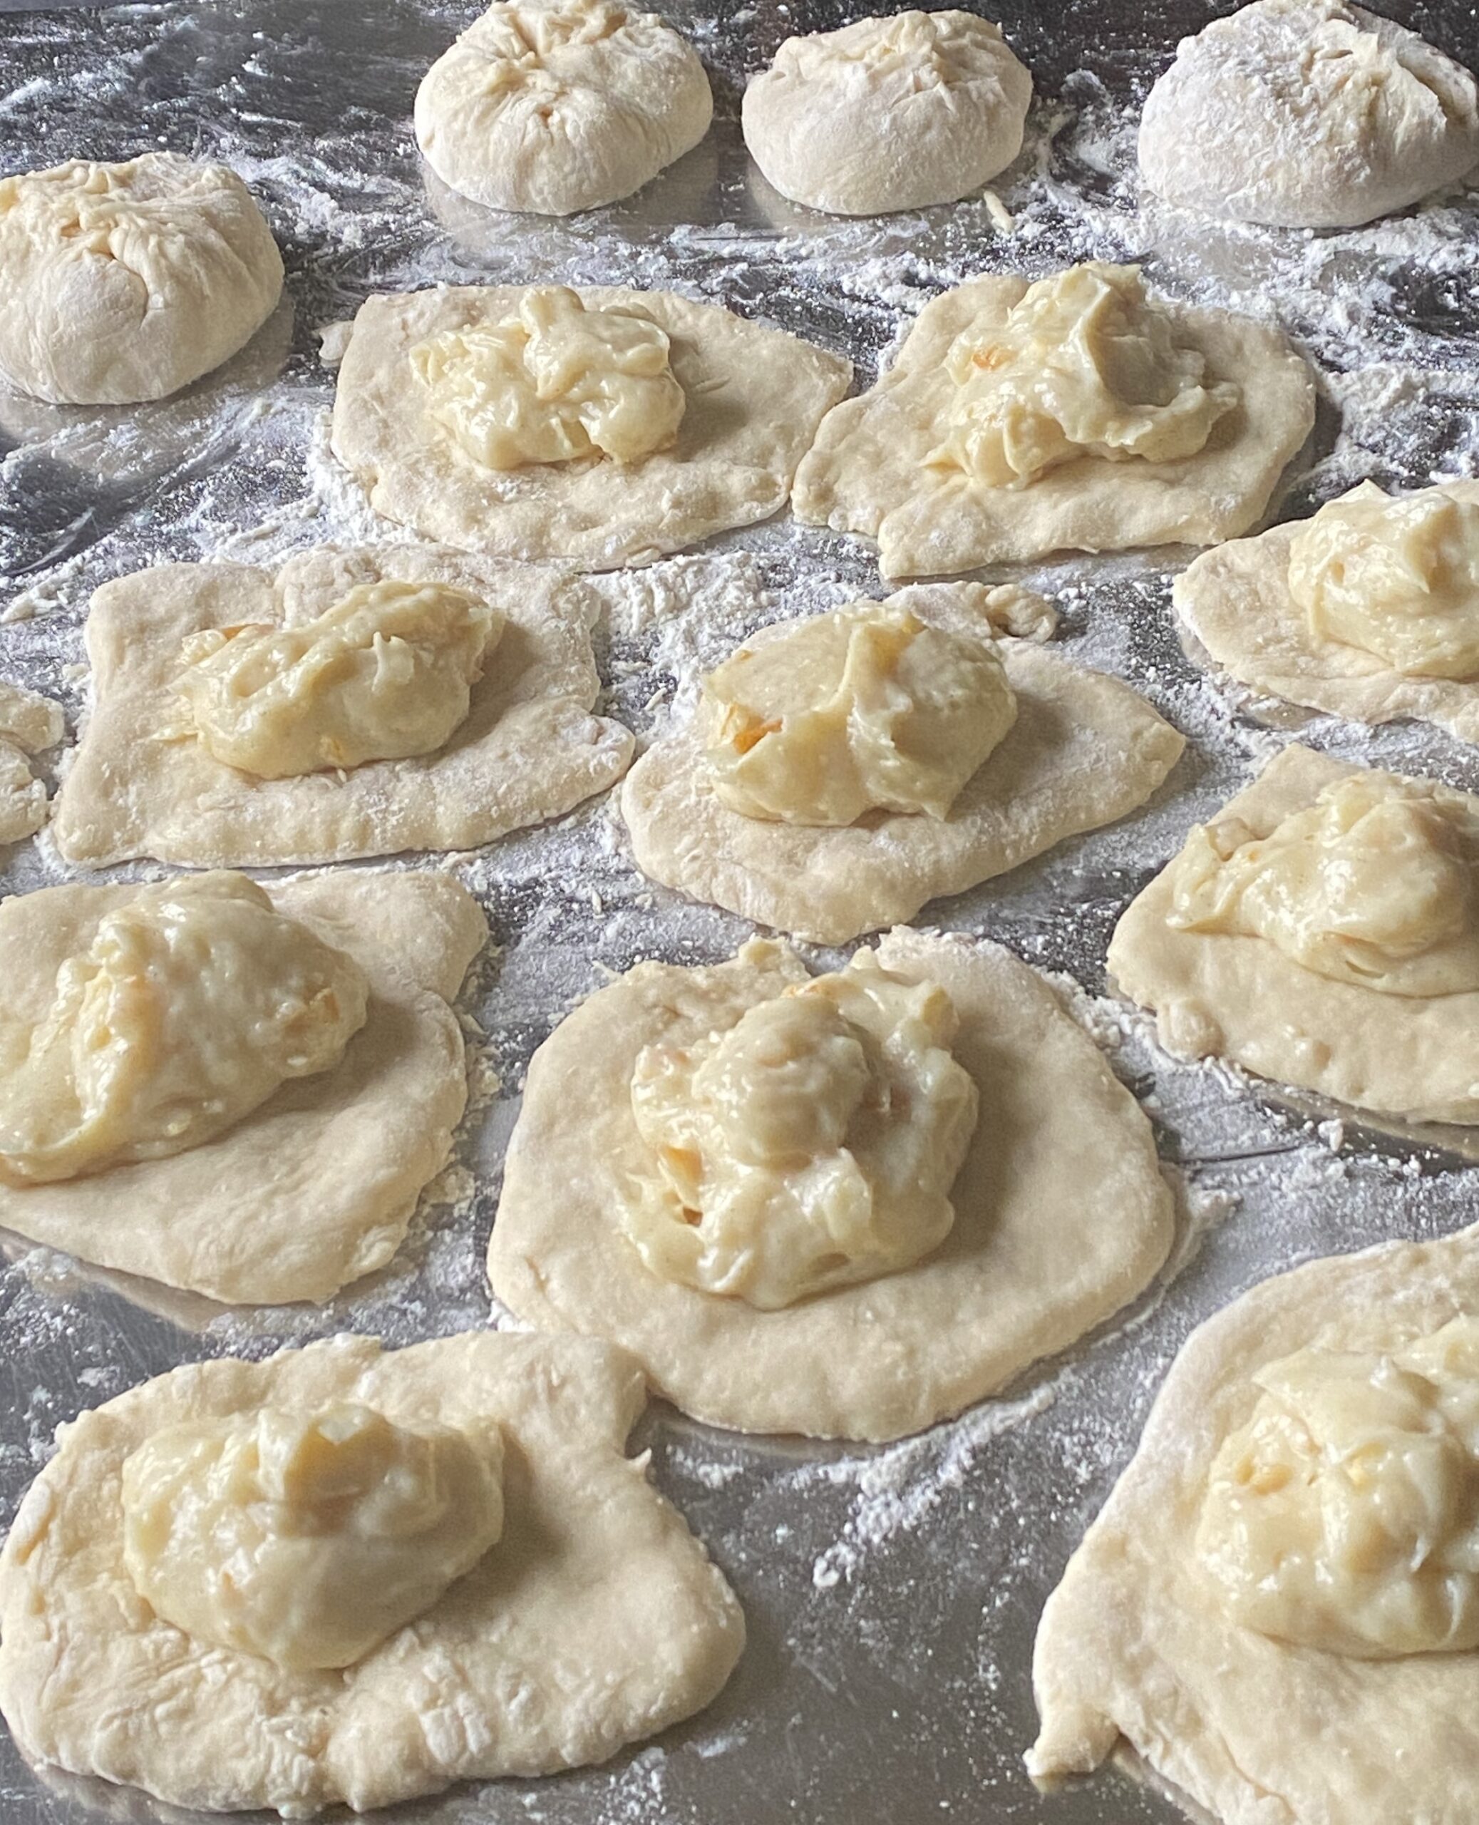
[{"label": "sealed dough ball with pleated top, leftmost of three along top edge", "polygon": [[688,38],[609,0],[496,0],[416,91],[416,142],[436,175],[536,215],[629,197],[711,117]]}]

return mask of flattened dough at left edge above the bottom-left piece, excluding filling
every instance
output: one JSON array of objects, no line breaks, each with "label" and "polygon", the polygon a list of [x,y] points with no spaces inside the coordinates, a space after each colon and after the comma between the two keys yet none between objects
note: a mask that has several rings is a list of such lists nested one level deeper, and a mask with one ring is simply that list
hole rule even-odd
[{"label": "flattened dough at left edge above the bottom-left piece, excluding filling", "polygon": [[[62,960],[137,892],[47,887],[0,903],[5,1022],[35,1022]],[[326,1299],[390,1259],[467,1102],[461,1027],[447,1004],[487,922],[445,874],[343,871],[268,892],[368,978],[368,1017],[343,1062],[284,1084],[184,1153],[60,1184],[0,1184],[0,1225],[235,1305]]]}]

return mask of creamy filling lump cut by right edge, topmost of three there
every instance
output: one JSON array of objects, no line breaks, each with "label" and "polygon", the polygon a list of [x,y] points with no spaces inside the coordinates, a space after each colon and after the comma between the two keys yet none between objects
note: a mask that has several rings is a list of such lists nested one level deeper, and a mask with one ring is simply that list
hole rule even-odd
[{"label": "creamy filling lump cut by right edge, topmost of three there", "polygon": [[1479,502],[1362,482],[1289,542],[1289,595],[1309,633],[1410,677],[1479,677]]}]

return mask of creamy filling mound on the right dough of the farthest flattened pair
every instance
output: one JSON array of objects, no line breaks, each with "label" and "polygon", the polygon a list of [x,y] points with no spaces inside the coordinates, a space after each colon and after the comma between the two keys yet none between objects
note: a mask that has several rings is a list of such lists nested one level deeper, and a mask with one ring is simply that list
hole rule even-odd
[{"label": "creamy filling mound on the right dough of the farthest flattened pair", "polygon": [[992,327],[950,347],[956,392],[930,464],[983,487],[1027,487],[1076,456],[1178,462],[1238,403],[1205,387],[1205,358],[1180,345],[1138,266],[1085,261],[1030,285]]}]

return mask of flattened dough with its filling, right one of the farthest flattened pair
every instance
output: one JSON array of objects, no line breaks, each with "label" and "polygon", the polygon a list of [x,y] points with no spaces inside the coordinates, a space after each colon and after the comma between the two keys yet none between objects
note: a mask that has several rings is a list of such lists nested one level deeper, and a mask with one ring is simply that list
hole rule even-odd
[{"label": "flattened dough with its filling, right one of the farthest flattened pair", "polygon": [[1216,544],[1260,516],[1313,423],[1277,328],[1147,297],[1134,266],[972,279],[828,412],[791,506],[875,538],[884,577]]}]

